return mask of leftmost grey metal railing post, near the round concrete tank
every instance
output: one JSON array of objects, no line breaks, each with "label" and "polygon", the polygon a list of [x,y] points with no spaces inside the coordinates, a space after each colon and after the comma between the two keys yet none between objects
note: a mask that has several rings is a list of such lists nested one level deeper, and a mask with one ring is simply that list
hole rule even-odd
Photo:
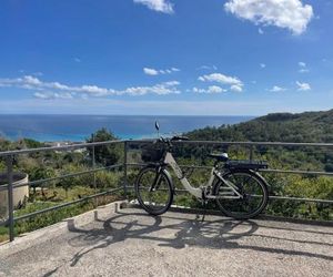
[{"label": "leftmost grey metal railing post, near the round concrete tank", "polygon": [[14,219],[13,219],[13,195],[12,195],[12,156],[7,157],[7,181],[8,181],[8,225],[9,240],[14,239]]}]

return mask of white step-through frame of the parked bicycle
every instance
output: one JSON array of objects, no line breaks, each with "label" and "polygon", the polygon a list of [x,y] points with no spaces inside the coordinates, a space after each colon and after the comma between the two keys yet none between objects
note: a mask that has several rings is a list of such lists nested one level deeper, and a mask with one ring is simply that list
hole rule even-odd
[{"label": "white step-through frame of the parked bicycle", "polygon": [[[172,156],[172,154],[170,152],[167,152],[165,157],[164,157],[164,163],[171,166],[171,168],[173,170],[175,176],[179,178],[179,181],[181,182],[183,187],[190,194],[194,195],[196,198],[215,199],[215,198],[242,198],[243,197],[238,192],[236,186],[234,184],[232,184],[230,181],[224,179],[222,177],[222,174],[215,167],[212,168],[211,176],[210,176],[210,178],[209,178],[205,186],[194,187],[190,184],[188,178],[183,175],[182,170],[179,167],[178,163],[175,162],[174,157]],[[212,187],[215,177],[218,177],[219,179],[221,179],[224,183],[225,187],[223,187],[223,189],[229,191],[229,192],[220,193],[219,196],[206,194],[204,188]]]}]

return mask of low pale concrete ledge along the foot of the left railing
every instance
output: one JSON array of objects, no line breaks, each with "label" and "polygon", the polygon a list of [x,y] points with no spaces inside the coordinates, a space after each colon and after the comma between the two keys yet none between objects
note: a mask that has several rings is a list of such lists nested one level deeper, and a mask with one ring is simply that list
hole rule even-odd
[{"label": "low pale concrete ledge along the foot of the left railing", "polygon": [[0,253],[6,250],[7,253],[14,254],[29,248],[30,246],[38,243],[43,243],[56,236],[60,236],[62,233],[69,230],[71,226],[81,227],[89,223],[92,223],[100,218],[108,218],[111,214],[117,212],[118,208],[124,207],[124,202],[113,202],[105,206],[100,206],[97,209],[89,211],[84,214],[65,218],[60,223],[40,228],[30,233],[21,234],[16,237],[13,242],[7,242],[0,244]]}]

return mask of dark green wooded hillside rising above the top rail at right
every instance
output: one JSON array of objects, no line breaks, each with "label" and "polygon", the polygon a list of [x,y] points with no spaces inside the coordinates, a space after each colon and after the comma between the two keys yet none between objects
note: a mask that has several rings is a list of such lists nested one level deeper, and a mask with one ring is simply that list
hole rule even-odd
[{"label": "dark green wooded hillside rising above the top rail at right", "polygon": [[333,143],[333,110],[272,113],[235,125],[189,132],[192,140]]}]

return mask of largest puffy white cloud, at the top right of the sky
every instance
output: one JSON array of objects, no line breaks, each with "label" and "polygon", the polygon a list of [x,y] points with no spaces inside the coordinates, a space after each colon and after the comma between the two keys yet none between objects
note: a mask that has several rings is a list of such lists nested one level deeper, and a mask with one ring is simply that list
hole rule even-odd
[{"label": "largest puffy white cloud, at the top right of the sky", "polygon": [[224,9],[255,24],[286,28],[294,34],[303,33],[313,18],[312,6],[301,0],[229,0]]}]

